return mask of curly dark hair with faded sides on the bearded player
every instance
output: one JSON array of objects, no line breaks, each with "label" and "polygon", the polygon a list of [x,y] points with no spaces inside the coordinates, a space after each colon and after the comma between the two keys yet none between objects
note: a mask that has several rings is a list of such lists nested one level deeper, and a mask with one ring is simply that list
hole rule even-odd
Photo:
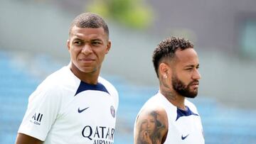
[{"label": "curly dark hair with faded sides on the bearded player", "polygon": [[184,38],[169,37],[162,40],[156,46],[152,57],[157,77],[159,77],[158,68],[161,60],[164,60],[166,57],[172,59],[177,50],[185,50],[187,48],[193,48],[193,44]]}]

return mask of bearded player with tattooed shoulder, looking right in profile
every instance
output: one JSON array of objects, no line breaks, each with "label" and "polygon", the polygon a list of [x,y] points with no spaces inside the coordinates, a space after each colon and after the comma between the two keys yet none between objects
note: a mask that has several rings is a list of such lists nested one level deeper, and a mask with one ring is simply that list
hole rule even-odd
[{"label": "bearded player with tattooed shoulder, looking right in profile", "polygon": [[153,63],[159,92],[139,111],[134,144],[204,143],[195,98],[201,74],[193,44],[184,38],[166,38],[154,50]]}]

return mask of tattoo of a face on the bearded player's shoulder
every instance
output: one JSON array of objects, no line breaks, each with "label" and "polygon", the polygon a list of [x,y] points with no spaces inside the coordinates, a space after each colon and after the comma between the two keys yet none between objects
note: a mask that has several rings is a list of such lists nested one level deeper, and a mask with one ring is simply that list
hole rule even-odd
[{"label": "tattoo of a face on the bearded player's shoulder", "polygon": [[139,121],[139,135],[137,144],[156,144],[161,143],[161,133],[166,126],[159,121],[159,114],[152,111],[144,115],[142,121]]}]

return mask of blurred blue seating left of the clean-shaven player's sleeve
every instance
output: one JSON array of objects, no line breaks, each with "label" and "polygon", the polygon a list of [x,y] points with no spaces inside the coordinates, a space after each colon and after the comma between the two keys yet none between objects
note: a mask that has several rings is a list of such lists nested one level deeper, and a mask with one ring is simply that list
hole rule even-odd
[{"label": "blurred blue seating left of the clean-shaven player's sleeve", "polygon": [[38,82],[17,69],[9,52],[4,51],[0,51],[0,79],[0,143],[14,143],[28,95]]}]

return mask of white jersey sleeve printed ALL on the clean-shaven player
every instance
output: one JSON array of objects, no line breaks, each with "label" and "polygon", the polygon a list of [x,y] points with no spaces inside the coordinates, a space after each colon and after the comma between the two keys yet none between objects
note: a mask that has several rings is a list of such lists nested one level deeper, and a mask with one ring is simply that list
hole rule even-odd
[{"label": "white jersey sleeve printed ALL on the clean-shaven player", "polygon": [[28,99],[28,108],[18,133],[46,140],[60,111],[61,91],[57,87],[38,87]]}]

